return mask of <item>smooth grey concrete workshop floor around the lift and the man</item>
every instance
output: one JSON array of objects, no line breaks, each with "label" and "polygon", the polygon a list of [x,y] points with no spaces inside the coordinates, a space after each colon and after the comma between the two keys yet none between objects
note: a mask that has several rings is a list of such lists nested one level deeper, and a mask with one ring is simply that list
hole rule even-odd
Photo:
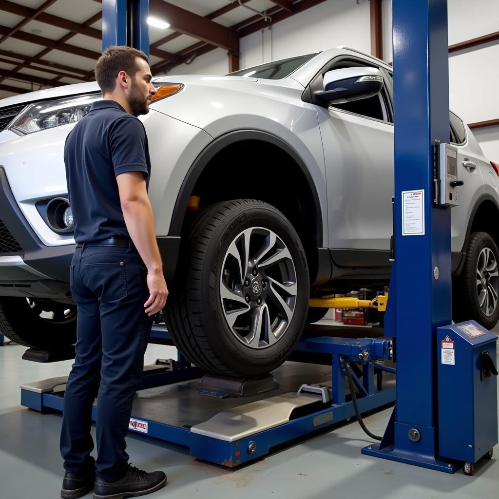
[{"label": "smooth grey concrete workshop floor around the lift and the man", "polygon": [[[495,332],[499,333],[499,328]],[[23,361],[24,350],[13,344],[0,347],[0,498],[54,499],[59,497],[63,473],[58,447],[61,417],[19,406],[18,387],[65,376],[71,361]],[[175,356],[173,347],[150,345],[145,363]],[[390,413],[391,409],[378,412],[365,418],[365,423],[380,435]],[[372,441],[357,422],[300,441],[237,470],[196,461],[185,448],[136,434],[128,436],[127,442],[135,466],[163,470],[168,475],[168,485],[149,496],[155,499],[499,497],[499,446],[491,461],[478,464],[474,477],[461,471],[448,475],[361,455],[360,449]]]}]

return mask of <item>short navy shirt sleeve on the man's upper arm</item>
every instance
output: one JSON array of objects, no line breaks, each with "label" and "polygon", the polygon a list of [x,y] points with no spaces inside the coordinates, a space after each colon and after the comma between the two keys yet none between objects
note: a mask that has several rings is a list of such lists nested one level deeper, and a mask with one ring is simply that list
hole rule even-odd
[{"label": "short navy shirt sleeve on the man's upper arm", "polygon": [[132,115],[119,118],[111,125],[109,147],[117,177],[126,172],[143,172],[149,176],[146,162],[146,131],[144,125]]}]

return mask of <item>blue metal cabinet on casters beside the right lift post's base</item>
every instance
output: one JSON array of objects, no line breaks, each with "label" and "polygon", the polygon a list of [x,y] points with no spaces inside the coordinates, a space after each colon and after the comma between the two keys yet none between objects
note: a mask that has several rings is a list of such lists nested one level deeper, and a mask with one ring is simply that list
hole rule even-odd
[{"label": "blue metal cabinet on casters beside the right lift post's base", "polygon": [[497,336],[468,321],[437,340],[439,456],[476,463],[498,443]]}]

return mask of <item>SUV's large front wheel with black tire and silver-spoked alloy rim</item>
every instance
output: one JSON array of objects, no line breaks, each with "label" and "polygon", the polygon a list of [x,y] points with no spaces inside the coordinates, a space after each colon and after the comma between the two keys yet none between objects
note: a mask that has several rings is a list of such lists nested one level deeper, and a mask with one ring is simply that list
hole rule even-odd
[{"label": "SUV's large front wheel with black tire and silver-spoked alloy rim", "polygon": [[223,376],[257,376],[282,364],[305,325],[310,290],[289,221],[261,201],[227,201],[200,212],[184,242],[165,309],[179,351]]}]

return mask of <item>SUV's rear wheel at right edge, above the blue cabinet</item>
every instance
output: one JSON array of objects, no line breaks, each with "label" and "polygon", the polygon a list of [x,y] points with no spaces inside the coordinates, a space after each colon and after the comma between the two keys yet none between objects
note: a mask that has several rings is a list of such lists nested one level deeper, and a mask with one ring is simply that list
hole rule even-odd
[{"label": "SUV's rear wheel at right edge, above the blue cabinet", "polygon": [[[470,236],[461,276],[453,286],[453,320],[473,319],[487,329],[499,320],[499,251],[485,232]],[[479,282],[480,281],[480,282]]]}]

